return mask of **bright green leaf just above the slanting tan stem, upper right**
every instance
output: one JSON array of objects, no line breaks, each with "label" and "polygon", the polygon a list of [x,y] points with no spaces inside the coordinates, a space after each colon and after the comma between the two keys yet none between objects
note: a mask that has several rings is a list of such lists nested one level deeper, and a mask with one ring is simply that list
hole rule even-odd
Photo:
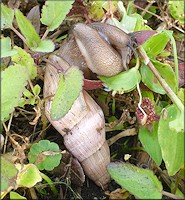
[{"label": "bright green leaf just above the slanting tan stem, upper right", "polygon": [[169,36],[165,32],[158,33],[152,35],[148,40],[146,40],[146,42],[142,46],[148,56],[155,57],[162,50],[164,50],[169,39],[170,39]]}]

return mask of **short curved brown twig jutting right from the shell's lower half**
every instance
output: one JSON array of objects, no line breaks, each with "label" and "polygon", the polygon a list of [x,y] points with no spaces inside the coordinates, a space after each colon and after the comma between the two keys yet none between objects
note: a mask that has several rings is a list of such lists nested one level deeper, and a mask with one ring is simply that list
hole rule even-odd
[{"label": "short curved brown twig jutting right from the shell's lower half", "polygon": [[117,135],[111,137],[110,139],[107,140],[107,142],[108,142],[108,145],[111,146],[113,143],[115,143],[120,138],[127,137],[127,136],[133,136],[133,135],[137,135],[136,129],[135,128],[127,129],[127,130],[122,131],[122,132],[118,133]]}]

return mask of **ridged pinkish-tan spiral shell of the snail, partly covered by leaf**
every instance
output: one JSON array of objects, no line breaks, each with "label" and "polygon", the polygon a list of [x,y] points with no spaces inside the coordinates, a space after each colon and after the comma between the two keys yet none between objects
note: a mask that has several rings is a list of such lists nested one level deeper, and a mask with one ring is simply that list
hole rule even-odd
[{"label": "ridged pinkish-tan spiral shell of the snail, partly covered by leaf", "polygon": [[[49,59],[64,66],[64,61],[55,55],[51,55]],[[44,78],[45,98],[55,94],[58,82],[57,70],[47,64]],[[87,92],[82,91],[69,112],[60,120],[52,121],[52,100],[52,97],[47,98],[45,103],[47,118],[64,137],[66,148],[81,162],[85,174],[97,185],[106,188],[110,180],[106,169],[110,162],[110,151],[105,139],[105,121],[101,108]]]}]

